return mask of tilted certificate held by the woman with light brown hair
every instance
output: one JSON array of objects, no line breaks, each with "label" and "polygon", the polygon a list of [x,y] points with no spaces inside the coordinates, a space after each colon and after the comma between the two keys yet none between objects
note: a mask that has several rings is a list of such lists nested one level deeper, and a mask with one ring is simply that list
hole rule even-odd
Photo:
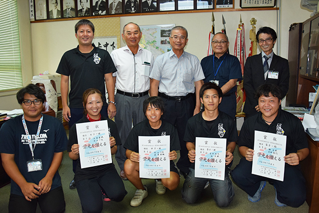
[{"label": "tilted certificate held by the woman with light brown hair", "polygon": [[108,121],[75,124],[81,169],[112,163]]}]

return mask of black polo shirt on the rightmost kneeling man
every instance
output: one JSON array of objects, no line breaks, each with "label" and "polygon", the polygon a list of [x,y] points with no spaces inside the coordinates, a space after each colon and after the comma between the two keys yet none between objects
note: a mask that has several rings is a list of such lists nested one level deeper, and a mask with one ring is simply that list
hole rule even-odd
[{"label": "black polo shirt on the rightmost kneeling man", "polygon": [[238,145],[254,149],[255,130],[277,134],[284,132],[287,136],[286,155],[297,153],[298,150],[308,148],[304,127],[296,116],[279,109],[275,120],[270,124],[262,119],[262,113],[247,118],[240,130]]}]

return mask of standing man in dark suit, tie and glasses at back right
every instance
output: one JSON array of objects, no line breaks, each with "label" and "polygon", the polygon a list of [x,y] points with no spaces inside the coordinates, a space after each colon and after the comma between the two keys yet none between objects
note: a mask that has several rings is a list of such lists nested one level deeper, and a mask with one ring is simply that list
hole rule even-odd
[{"label": "standing man in dark suit, tie and glasses at back right", "polygon": [[254,98],[255,91],[262,84],[275,84],[280,87],[283,97],[289,88],[288,60],[276,55],[273,47],[277,40],[274,29],[264,26],[256,34],[262,52],[247,58],[244,70],[244,89],[246,102],[244,112],[252,116],[259,112],[258,99]]}]

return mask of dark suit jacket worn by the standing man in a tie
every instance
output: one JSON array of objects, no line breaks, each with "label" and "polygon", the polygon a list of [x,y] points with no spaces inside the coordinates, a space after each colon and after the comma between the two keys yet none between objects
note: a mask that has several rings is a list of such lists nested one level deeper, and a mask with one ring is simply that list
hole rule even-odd
[{"label": "dark suit jacket worn by the standing man in a tie", "polygon": [[269,70],[279,72],[278,79],[264,78],[264,67],[261,53],[247,58],[244,69],[244,89],[246,92],[246,102],[244,112],[249,116],[257,113],[255,106],[258,99],[255,99],[255,92],[262,84],[275,84],[280,87],[283,95],[286,95],[289,88],[289,64],[288,60],[278,55],[273,56]]}]

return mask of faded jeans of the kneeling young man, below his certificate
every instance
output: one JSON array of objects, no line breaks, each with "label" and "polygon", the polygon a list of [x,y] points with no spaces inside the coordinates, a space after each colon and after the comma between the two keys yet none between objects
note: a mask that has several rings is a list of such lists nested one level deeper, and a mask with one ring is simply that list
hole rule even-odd
[{"label": "faded jeans of the kneeling young man, below his certificate", "polygon": [[207,181],[210,184],[216,204],[220,207],[227,207],[234,198],[234,188],[228,176],[228,172],[225,172],[225,180],[220,181],[206,178],[195,178],[195,170],[189,168],[188,176],[181,190],[183,200],[188,204],[196,203],[200,199],[200,195]]}]

